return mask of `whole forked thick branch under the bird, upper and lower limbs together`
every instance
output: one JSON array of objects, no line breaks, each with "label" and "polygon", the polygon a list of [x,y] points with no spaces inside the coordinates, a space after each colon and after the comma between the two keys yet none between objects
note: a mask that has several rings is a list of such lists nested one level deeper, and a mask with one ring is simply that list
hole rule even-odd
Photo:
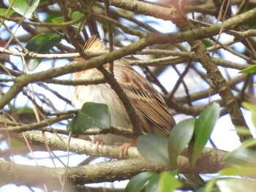
[{"label": "whole forked thick branch under the bird, upper and lower limbs together", "polygon": [[[28,131],[24,133],[31,144],[45,145],[42,139],[42,133]],[[59,136],[61,137],[61,136]],[[67,150],[67,137],[61,139],[55,134],[45,133],[45,140],[48,142],[51,150]],[[104,145],[99,147],[99,151],[91,147],[90,142],[81,139],[71,139],[70,152],[78,154],[104,155],[109,158],[117,158],[119,147]],[[186,152],[184,153],[186,155]],[[215,173],[225,168],[222,157],[225,152],[206,148],[203,150],[195,169],[189,165],[189,160],[185,156],[178,157],[178,170],[180,173]],[[45,166],[24,166],[12,162],[0,161],[0,176],[3,183],[15,183],[18,185],[36,185],[42,186],[45,183],[52,188],[59,188],[59,178],[67,177],[68,183],[83,185],[88,183],[113,182],[115,180],[127,180],[140,172],[154,171],[162,172],[163,170],[173,170],[169,166],[156,164],[141,158],[135,147],[129,147],[128,160],[110,161],[99,164],[90,164],[86,166],[75,166],[66,168],[49,168]],[[26,174],[24,174],[26,172]],[[57,173],[57,174],[56,174]],[[4,177],[3,177],[4,176]]]}]

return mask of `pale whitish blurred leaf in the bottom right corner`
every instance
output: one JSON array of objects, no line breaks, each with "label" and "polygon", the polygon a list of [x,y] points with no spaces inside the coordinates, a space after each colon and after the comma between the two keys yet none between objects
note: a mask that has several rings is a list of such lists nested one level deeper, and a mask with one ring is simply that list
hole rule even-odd
[{"label": "pale whitish blurred leaf in the bottom right corner", "polygon": [[255,180],[244,180],[238,178],[228,178],[217,180],[217,186],[220,191],[225,192],[254,192],[256,188]]}]

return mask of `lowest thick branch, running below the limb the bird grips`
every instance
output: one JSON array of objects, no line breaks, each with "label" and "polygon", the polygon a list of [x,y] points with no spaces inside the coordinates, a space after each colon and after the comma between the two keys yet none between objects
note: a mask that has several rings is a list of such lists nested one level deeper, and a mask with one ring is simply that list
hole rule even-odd
[{"label": "lowest thick branch, running below the limb the bird grips", "polygon": [[[224,153],[213,153],[213,150],[208,150],[205,154],[211,154],[209,156],[211,158],[215,158],[214,161],[219,161],[219,158],[222,158]],[[187,158],[180,156],[178,158],[178,162],[180,166],[179,172],[192,172],[192,169],[189,168]],[[206,161],[206,159],[202,159],[202,163],[195,168],[195,172],[202,171],[202,167],[204,169],[203,173],[217,172],[219,169],[224,168],[223,164],[219,164],[219,167],[217,167],[208,164],[209,162],[212,163],[213,161]],[[164,170],[172,170],[172,168],[152,163],[144,158],[110,161],[86,166],[75,166],[69,167],[68,169],[49,168],[45,166],[26,166],[7,161],[0,161],[1,182],[6,184],[13,183],[13,178],[16,178],[15,184],[18,185],[42,186],[43,184],[46,184],[48,187],[53,189],[60,188],[61,183],[59,178],[61,178],[61,180],[64,179],[66,170],[66,183],[83,185],[88,183],[127,180],[140,172],[162,172]]]}]

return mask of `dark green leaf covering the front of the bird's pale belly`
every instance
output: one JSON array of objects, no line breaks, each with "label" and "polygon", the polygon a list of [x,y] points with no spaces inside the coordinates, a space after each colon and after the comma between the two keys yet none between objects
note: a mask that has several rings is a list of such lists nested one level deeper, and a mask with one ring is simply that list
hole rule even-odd
[{"label": "dark green leaf covering the front of the bird's pale belly", "polygon": [[110,126],[108,105],[86,102],[80,112],[67,124],[67,129],[73,134],[79,134],[89,128],[110,128]]}]

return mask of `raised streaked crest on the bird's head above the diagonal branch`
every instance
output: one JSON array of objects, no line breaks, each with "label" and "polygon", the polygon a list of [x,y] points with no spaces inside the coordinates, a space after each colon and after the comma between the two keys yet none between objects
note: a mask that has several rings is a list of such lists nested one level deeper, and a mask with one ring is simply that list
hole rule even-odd
[{"label": "raised streaked crest on the bird's head above the diagonal branch", "polygon": [[86,44],[83,46],[84,51],[101,51],[108,50],[102,39],[99,39],[96,35],[91,36]]}]

